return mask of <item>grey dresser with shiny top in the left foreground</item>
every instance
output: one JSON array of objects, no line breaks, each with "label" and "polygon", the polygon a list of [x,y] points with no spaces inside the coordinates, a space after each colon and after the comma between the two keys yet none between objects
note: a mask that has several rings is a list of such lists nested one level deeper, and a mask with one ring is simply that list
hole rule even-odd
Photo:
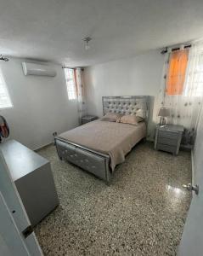
[{"label": "grey dresser with shiny top in the left foreground", "polygon": [[59,205],[50,163],[15,140],[0,144],[0,149],[31,225],[35,226]]}]

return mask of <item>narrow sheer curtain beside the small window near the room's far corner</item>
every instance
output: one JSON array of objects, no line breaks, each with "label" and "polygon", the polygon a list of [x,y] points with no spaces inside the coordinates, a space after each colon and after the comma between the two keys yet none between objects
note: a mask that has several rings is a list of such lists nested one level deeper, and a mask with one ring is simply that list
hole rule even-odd
[{"label": "narrow sheer curtain beside the small window near the room's far corner", "polygon": [[86,115],[86,102],[82,68],[76,68],[76,95],[79,124],[82,125],[82,116]]}]

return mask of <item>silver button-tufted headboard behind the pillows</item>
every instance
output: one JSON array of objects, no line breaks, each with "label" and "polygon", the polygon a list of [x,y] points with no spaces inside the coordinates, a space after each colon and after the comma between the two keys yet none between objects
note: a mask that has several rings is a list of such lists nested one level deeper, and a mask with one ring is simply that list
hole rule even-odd
[{"label": "silver button-tufted headboard behind the pillows", "polygon": [[150,96],[103,96],[103,113],[133,114],[142,109],[145,121],[149,119]]}]

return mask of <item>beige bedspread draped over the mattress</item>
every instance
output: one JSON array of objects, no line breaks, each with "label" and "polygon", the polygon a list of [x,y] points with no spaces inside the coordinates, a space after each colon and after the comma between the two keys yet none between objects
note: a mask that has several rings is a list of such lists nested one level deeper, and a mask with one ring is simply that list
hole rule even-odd
[{"label": "beige bedspread draped over the mattress", "polygon": [[125,155],[145,136],[146,125],[144,122],[136,126],[101,121],[100,119],[59,135],[71,143],[109,154],[112,171],[117,164],[125,160]]}]

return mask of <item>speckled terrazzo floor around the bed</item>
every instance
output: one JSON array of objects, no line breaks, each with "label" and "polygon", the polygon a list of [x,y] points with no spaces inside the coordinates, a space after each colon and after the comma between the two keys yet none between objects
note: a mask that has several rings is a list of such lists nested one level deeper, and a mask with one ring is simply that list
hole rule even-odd
[{"label": "speckled terrazzo floor around the bed", "polygon": [[108,187],[76,166],[51,161],[59,207],[37,225],[45,255],[176,255],[191,194],[189,152],[178,157],[139,143]]}]

